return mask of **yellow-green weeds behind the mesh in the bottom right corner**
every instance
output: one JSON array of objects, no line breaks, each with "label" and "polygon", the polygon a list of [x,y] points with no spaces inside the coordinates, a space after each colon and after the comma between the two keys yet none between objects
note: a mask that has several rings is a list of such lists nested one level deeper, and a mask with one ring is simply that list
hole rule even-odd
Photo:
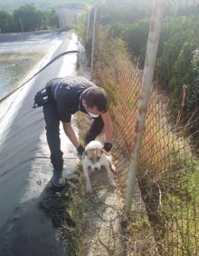
[{"label": "yellow-green weeds behind the mesh in the bottom right corner", "polygon": [[[193,159],[183,166],[180,177],[175,177],[175,188],[166,193],[165,218],[167,222],[168,247],[173,248],[174,255],[196,255],[195,237],[198,226],[195,225],[199,216],[199,162]],[[178,247],[175,247],[178,244]],[[181,253],[179,254],[179,249]]]}]

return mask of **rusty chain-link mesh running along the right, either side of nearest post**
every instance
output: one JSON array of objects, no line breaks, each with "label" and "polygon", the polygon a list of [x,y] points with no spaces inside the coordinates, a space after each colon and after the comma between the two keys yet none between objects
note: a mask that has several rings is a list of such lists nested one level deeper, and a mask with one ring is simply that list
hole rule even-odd
[{"label": "rusty chain-link mesh running along the right, either side of nearest post", "polygon": [[[123,2],[119,2],[119,8]],[[134,5],[126,2],[127,5],[130,3],[129,8]],[[132,34],[129,39],[127,34],[119,32],[126,40],[124,44],[118,38],[121,27],[117,28],[113,23],[116,3],[111,0],[108,3],[109,8],[102,10],[104,13],[98,17],[93,77],[109,95],[114,122],[112,153],[116,160],[118,188],[124,200],[134,146],[143,45],[147,44],[146,34],[142,34],[147,30],[141,29],[147,23],[143,22],[138,30],[142,36]],[[151,9],[151,0],[138,3],[139,7],[147,5]],[[130,255],[199,255],[199,160],[195,148],[198,145],[198,129],[195,130],[198,108],[193,104],[197,104],[197,80],[192,84],[199,59],[195,57],[199,48],[198,6],[198,0],[166,1],[156,68],[156,78],[159,79],[154,83],[148,104],[131,219],[127,224]],[[110,18],[106,13],[109,10]],[[133,22],[137,23],[137,20]],[[132,31],[137,33],[136,29]],[[133,48],[128,39],[132,44],[136,41],[137,47]],[[185,80],[185,74],[189,80]],[[171,112],[174,105],[178,108]],[[192,107],[194,110],[190,111]],[[185,114],[187,118],[183,116]]]}]

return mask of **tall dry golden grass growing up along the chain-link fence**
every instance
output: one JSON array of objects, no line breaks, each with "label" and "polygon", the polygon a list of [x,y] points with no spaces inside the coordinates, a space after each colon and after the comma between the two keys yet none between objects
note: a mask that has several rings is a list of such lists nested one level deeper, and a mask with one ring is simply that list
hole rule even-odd
[{"label": "tall dry golden grass growing up along the chain-link fence", "polygon": [[[141,86],[141,72],[137,64],[129,61],[125,51],[125,45],[120,40],[107,42],[103,37],[100,38],[95,69],[96,82],[109,95],[114,120],[113,154],[118,160],[118,185],[123,198]],[[159,243],[159,252],[164,254],[177,247],[175,251],[172,249],[173,252],[182,255],[180,253],[185,251],[191,253],[198,250],[198,231],[195,229],[199,215],[194,192],[187,188],[190,172],[196,177],[193,153],[184,136],[185,131],[176,130],[169,120],[168,99],[156,86],[148,104],[137,177],[150,222],[154,226],[156,241]],[[187,213],[189,209],[194,214],[192,220]],[[179,226],[183,228],[180,229]],[[132,233],[133,231],[132,228]],[[188,239],[189,236],[192,238]],[[193,250],[193,246],[196,249]]]}]

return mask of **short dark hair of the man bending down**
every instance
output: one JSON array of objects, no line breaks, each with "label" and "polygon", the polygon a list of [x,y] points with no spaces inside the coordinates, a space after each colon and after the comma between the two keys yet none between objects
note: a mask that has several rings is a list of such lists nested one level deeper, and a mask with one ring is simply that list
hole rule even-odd
[{"label": "short dark hair of the man bending down", "polygon": [[89,108],[96,106],[100,112],[106,112],[108,110],[107,94],[103,88],[92,88],[86,95],[85,100]]}]

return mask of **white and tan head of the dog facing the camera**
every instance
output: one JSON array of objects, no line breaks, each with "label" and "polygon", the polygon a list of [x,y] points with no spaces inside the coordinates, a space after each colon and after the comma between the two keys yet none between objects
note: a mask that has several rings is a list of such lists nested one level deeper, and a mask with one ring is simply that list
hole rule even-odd
[{"label": "white and tan head of the dog facing the camera", "polygon": [[102,144],[98,141],[90,142],[85,148],[85,154],[87,155],[93,172],[100,171],[102,153]]}]

